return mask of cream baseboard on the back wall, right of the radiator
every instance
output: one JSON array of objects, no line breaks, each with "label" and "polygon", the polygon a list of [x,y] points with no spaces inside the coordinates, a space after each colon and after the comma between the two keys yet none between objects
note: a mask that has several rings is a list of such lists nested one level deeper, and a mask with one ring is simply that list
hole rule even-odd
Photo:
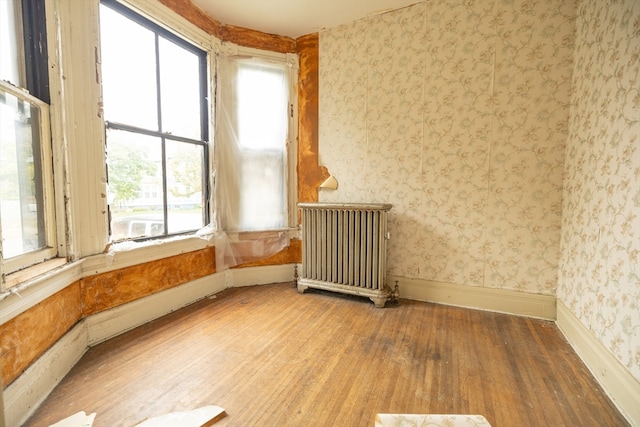
[{"label": "cream baseboard on the back wall, right of the radiator", "polygon": [[398,282],[400,298],[539,319],[556,319],[556,297],[503,289],[456,285],[432,280],[387,276],[387,285]]}]

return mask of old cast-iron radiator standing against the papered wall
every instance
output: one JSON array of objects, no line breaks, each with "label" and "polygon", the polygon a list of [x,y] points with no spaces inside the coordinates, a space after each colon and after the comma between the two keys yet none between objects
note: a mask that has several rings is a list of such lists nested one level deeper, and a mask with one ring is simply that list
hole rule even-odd
[{"label": "old cast-iron radiator standing against the papered wall", "polygon": [[324,289],[369,297],[376,307],[397,296],[386,285],[390,204],[299,203],[302,271],[298,292]]}]

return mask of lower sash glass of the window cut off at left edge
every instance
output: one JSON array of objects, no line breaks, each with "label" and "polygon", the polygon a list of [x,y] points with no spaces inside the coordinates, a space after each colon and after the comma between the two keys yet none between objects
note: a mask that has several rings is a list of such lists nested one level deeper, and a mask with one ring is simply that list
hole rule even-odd
[{"label": "lower sash glass of the window cut off at left edge", "polygon": [[0,91],[0,218],[4,258],[46,246],[39,110]]}]

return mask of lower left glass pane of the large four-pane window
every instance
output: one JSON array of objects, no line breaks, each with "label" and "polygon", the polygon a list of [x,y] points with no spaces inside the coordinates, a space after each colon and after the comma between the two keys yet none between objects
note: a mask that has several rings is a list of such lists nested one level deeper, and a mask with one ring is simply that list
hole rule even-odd
[{"label": "lower left glass pane of the large four-pane window", "polygon": [[164,234],[160,138],[109,130],[107,165],[113,240]]}]

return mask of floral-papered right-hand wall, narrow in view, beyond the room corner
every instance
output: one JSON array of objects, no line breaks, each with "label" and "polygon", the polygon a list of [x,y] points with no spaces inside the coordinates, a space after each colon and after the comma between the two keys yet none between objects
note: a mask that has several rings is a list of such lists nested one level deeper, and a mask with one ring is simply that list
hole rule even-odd
[{"label": "floral-papered right-hand wall, narrow in view, beyond the room corner", "polygon": [[640,380],[640,2],[578,9],[558,299]]}]

